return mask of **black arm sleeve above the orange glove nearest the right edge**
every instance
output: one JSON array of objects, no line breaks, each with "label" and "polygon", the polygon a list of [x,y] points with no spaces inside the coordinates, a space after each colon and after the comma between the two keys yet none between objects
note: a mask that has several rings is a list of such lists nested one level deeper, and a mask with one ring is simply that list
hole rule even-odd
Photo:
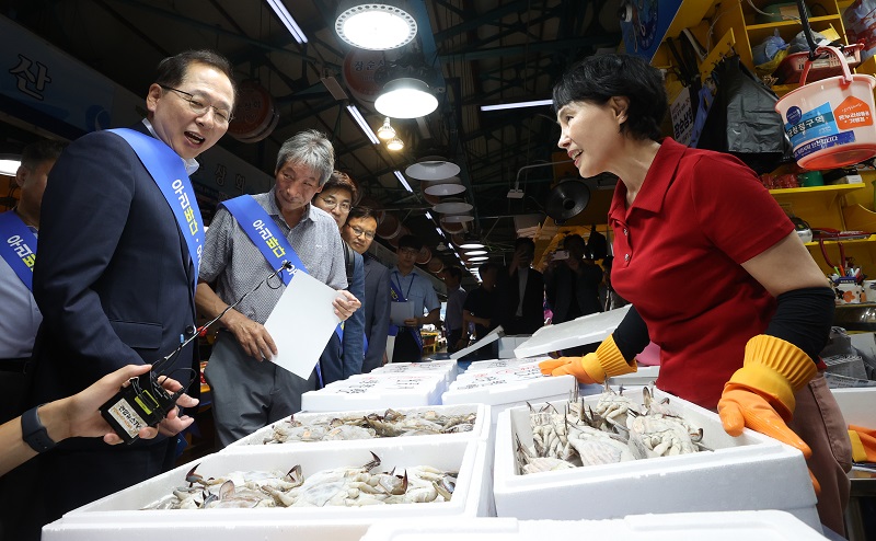
[{"label": "black arm sleeve above the orange glove nearest the right edge", "polygon": [[765,334],[791,342],[817,360],[830,336],[834,299],[829,287],[807,287],[780,295]]}]

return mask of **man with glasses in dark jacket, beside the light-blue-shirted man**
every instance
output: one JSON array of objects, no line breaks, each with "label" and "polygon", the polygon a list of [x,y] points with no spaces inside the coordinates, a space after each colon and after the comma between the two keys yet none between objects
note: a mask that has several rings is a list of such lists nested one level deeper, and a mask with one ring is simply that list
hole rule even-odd
[{"label": "man with glasses in dark jacket, beside the light-blue-shirted man", "polygon": [[390,327],[390,269],[366,252],[377,231],[377,217],[368,207],[353,207],[341,237],[365,258],[365,352],[362,373],[383,365]]}]

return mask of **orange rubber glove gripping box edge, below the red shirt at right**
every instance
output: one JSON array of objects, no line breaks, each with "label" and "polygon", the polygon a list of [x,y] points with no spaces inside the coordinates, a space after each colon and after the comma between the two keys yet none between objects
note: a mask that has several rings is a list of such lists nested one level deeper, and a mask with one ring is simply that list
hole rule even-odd
[{"label": "orange rubber glove gripping box edge, below the red shirt at right", "polygon": [[[746,426],[803,452],[812,450],[788,428],[796,401],[794,393],[816,375],[815,362],[800,348],[775,336],[759,334],[746,344],[742,368],[724,385],[718,414],[724,430],[739,436]],[[809,472],[816,494],[821,488]]]}]

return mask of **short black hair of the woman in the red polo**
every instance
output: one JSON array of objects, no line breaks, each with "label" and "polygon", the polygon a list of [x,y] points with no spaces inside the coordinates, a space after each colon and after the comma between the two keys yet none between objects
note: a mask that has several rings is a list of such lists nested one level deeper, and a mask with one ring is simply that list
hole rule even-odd
[{"label": "short black hair of the woman in the red polo", "polygon": [[658,140],[669,108],[660,70],[633,55],[590,56],[568,69],[554,85],[554,111],[572,102],[608,103],[626,96],[630,106],[621,133]]}]

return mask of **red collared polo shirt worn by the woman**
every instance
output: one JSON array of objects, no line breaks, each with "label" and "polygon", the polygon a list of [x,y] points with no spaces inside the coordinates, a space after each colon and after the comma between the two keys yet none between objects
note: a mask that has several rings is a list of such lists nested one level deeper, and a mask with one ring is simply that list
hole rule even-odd
[{"label": "red collared polo shirt worn by the woman", "polygon": [[630,208],[618,183],[609,223],[612,286],[661,349],[657,387],[717,407],[746,343],[775,311],[775,299],[740,264],[794,225],[741,161],[670,138]]}]

